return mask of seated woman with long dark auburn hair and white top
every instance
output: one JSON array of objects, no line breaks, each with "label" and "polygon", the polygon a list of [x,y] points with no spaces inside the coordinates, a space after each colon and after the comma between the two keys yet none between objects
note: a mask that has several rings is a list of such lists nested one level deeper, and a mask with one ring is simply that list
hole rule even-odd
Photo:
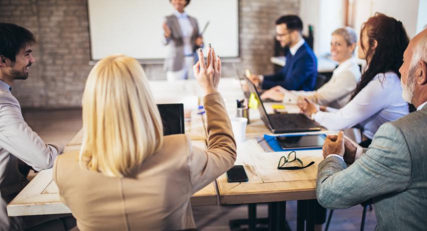
[{"label": "seated woman with long dark auburn hair and white top", "polygon": [[367,66],[351,100],[341,109],[327,107],[325,111],[308,99],[299,102],[306,116],[329,130],[341,130],[360,125],[362,147],[368,147],[378,128],[409,113],[402,98],[399,67],[409,38],[400,21],[376,13],[362,25],[359,58]]}]

